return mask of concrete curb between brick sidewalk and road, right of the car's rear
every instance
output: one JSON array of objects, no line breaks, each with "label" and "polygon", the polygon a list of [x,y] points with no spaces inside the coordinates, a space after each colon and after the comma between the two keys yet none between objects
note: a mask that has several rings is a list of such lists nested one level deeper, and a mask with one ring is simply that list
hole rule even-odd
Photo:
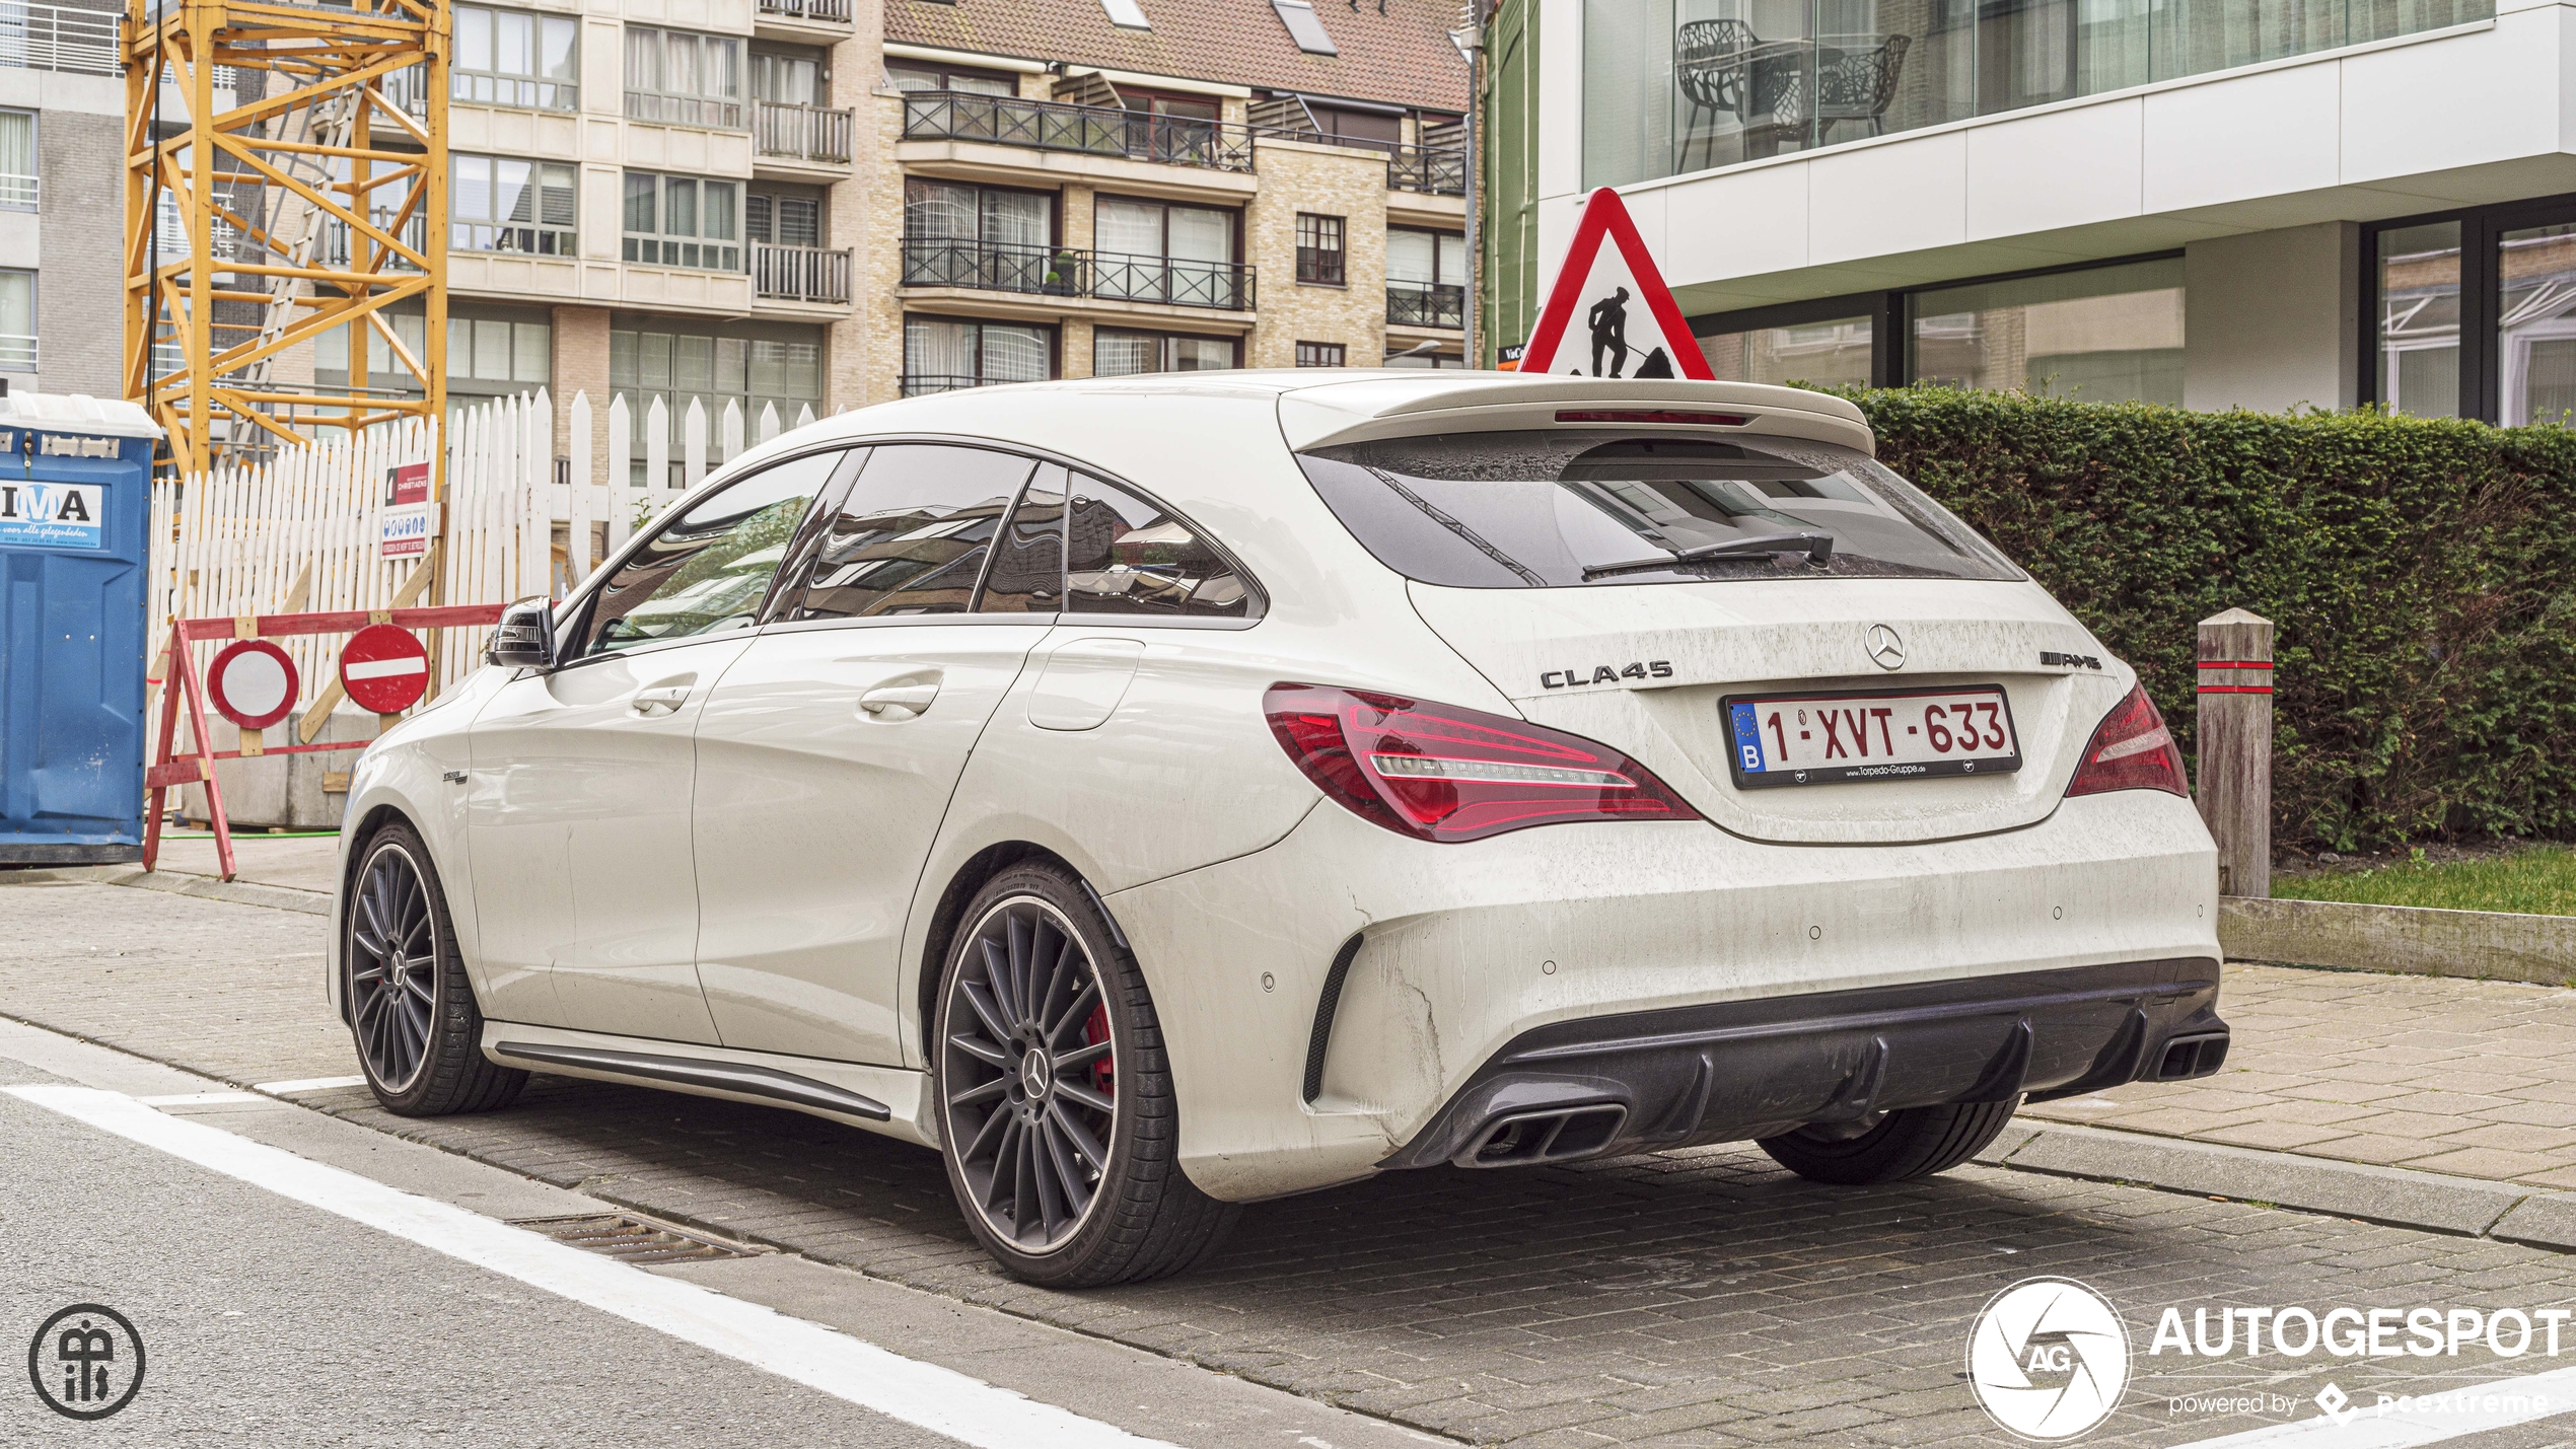
[{"label": "concrete curb between brick sidewalk and road, right of the car's rear", "polygon": [[2012,1171],[2360,1217],[2458,1238],[2576,1251],[2576,1192],[2512,1181],[2339,1163],[2112,1127],[2030,1127],[2025,1122],[2007,1125],[1976,1161]]}]

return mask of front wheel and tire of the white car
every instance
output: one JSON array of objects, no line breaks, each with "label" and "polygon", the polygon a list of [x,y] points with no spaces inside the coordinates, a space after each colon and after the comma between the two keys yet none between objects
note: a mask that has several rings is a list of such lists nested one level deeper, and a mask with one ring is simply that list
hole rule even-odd
[{"label": "front wheel and tire of the white car", "polygon": [[526,1071],[482,1055],[482,1009],[456,955],[448,898],[412,826],[368,836],[340,932],[358,1071],[386,1112],[492,1112],[528,1086]]}]

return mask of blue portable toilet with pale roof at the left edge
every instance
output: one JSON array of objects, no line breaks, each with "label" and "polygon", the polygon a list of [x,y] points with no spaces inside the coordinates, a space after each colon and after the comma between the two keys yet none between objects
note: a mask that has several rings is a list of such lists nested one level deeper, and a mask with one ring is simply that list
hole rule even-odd
[{"label": "blue portable toilet with pale roof at the left edge", "polygon": [[131,401],[0,396],[0,865],[144,854],[155,438]]}]

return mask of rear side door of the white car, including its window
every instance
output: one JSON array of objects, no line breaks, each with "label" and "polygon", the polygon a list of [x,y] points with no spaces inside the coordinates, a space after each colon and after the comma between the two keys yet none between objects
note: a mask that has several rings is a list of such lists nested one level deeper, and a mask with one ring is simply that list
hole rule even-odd
[{"label": "rear side door of the white car, including its window", "polygon": [[[1061,484],[878,445],[811,582],[698,718],[698,975],[729,1048],[899,1066],[904,914],[948,795],[1064,595]],[[999,551],[994,538],[1002,538]]]}]

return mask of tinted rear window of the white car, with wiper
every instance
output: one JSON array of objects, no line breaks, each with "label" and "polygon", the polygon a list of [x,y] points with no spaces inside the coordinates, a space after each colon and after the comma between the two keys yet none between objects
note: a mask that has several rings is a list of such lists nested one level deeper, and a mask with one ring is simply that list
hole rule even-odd
[{"label": "tinted rear window of the white car, with wiper", "polygon": [[2022,577],[1922,489],[1832,443],[1561,427],[1350,443],[1298,463],[1381,564],[1425,584]]}]

